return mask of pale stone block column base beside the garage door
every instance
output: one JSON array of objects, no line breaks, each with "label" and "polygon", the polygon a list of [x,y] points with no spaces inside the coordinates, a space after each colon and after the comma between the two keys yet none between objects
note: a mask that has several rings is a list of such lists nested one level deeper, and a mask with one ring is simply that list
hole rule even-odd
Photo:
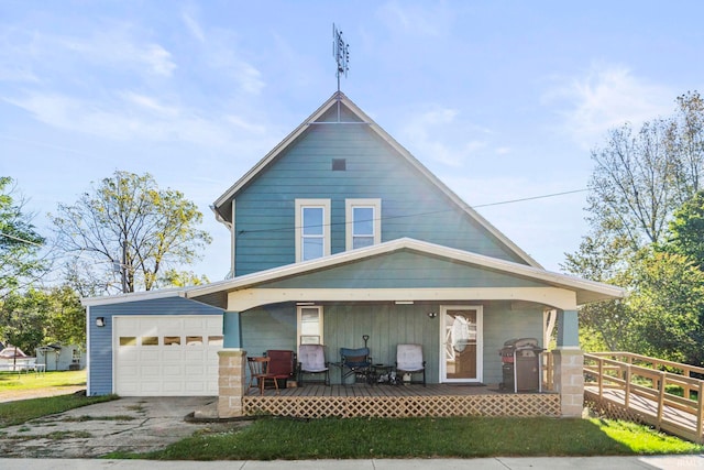
[{"label": "pale stone block column base beside the garage door", "polygon": [[226,348],[218,351],[218,417],[242,416],[246,351]]}]

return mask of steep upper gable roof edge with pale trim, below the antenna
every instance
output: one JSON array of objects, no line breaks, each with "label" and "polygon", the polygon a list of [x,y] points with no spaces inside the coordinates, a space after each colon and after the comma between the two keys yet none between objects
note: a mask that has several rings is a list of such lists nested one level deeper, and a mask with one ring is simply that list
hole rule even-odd
[{"label": "steep upper gable roof edge with pale trim, below the antenna", "polygon": [[402,157],[404,157],[420,175],[426,177],[435,185],[448,199],[460,207],[471,219],[480,227],[486,230],[491,236],[495,237],[499,243],[504,244],[510,252],[515,253],[520,260],[528,265],[541,267],[528,253],[521,250],[517,244],[509,240],[496,227],[491,225],[484,217],[476,212],[470,205],[460,198],[452,189],[435,176],[425,165],[422,165],[415,156],[410,154],[402,144],[399,144],[391,134],[382,129],[369,116],[364,113],[352,100],[343,92],[336,91],[320,108],[318,108],[308,119],[289,133],[282,142],[278,143],[271,152],[268,152],[256,165],[245,173],[238,182],[235,182],[226,193],[222,194],[212,205],[216,217],[221,221],[232,221],[232,200],[251,181],[256,178],[264,170],[266,170],[286,149],[288,149],[300,135],[302,135],[311,124],[319,122],[320,119],[336,106],[344,106],[355,119],[353,122],[364,123],[375,132],[384,142],[394,149]]}]

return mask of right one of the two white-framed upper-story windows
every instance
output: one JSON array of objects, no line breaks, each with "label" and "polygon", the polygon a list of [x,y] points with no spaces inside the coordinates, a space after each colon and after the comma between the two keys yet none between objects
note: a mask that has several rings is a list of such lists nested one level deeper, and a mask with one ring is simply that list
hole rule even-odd
[{"label": "right one of the two white-framed upper-story windows", "polygon": [[381,199],[346,199],[345,209],[348,250],[381,243]]}]

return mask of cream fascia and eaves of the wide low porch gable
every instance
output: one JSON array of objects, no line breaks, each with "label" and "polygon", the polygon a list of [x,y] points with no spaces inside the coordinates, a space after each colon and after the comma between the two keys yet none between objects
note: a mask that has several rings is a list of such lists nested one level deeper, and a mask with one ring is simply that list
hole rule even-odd
[{"label": "cream fascia and eaves of the wide low porch gable", "polygon": [[541,267],[527,266],[525,264],[515,263],[512,261],[499,260],[492,256],[476,254],[409,238],[402,238],[367,248],[344,251],[311,261],[288,264],[286,266],[246,274],[240,277],[220,281],[205,286],[189,287],[184,292],[183,295],[187,298],[193,298],[211,305],[218,305],[224,308],[227,305],[227,294],[229,292],[255,288],[257,286],[262,286],[275,281],[306,275],[330,267],[341,266],[344,264],[350,264],[405,250],[430,256],[442,258],[455,263],[479,266],[524,280],[540,282],[551,287],[573,291],[576,293],[578,305],[606,299],[623,298],[626,295],[623,288],[609,284],[587,281],[560,273],[553,273]]}]

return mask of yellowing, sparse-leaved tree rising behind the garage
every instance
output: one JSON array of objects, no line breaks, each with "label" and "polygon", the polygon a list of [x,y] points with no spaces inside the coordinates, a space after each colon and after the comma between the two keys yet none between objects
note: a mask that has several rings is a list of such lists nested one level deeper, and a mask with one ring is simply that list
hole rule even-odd
[{"label": "yellowing, sparse-leaved tree rising behind the garage", "polygon": [[50,217],[58,247],[82,256],[69,273],[84,289],[150,291],[162,272],[193,263],[210,243],[196,228],[202,221],[196,205],[180,192],[160,189],[150,174],[116,172]]}]

